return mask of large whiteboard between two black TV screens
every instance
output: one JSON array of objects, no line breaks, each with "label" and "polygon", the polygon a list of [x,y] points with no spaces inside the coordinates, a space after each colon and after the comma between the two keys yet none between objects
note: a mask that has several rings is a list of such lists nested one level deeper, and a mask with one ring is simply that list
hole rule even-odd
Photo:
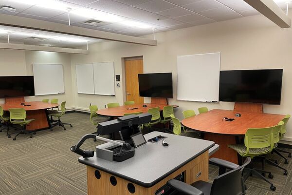
[{"label": "large whiteboard between two black TV screens", "polygon": [[178,56],[177,99],[219,101],[220,53]]}]

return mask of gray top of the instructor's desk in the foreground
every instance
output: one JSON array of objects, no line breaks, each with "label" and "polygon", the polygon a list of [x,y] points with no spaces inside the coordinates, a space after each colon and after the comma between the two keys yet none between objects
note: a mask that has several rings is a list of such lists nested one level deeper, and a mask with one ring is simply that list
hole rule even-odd
[{"label": "gray top of the instructor's desk in the foreground", "polygon": [[147,142],[135,150],[135,156],[122,162],[107,161],[95,154],[90,158],[80,157],[78,161],[143,187],[151,187],[215,145],[213,141],[162,132],[144,136],[148,140],[159,135],[167,137],[165,142],[169,146],[163,146],[161,141]]}]

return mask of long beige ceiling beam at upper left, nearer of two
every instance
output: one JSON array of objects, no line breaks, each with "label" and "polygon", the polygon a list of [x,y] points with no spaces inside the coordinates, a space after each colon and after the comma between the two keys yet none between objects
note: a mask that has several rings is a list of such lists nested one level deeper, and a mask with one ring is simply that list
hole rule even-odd
[{"label": "long beige ceiling beam at upper left, nearer of two", "polygon": [[151,45],[151,46],[157,45],[157,40],[153,40],[153,39],[144,39],[141,37],[121,35],[117,33],[104,32],[104,31],[99,31],[99,30],[82,28],[78,26],[69,26],[66,24],[24,18],[24,17],[19,17],[19,16],[11,16],[11,15],[6,15],[6,14],[0,14],[0,25],[49,31],[49,32],[62,33],[62,34],[67,34],[67,35],[76,35],[76,36],[89,37],[89,38],[95,38],[95,39],[114,40],[114,41],[135,43],[135,44],[141,44],[141,45]]}]

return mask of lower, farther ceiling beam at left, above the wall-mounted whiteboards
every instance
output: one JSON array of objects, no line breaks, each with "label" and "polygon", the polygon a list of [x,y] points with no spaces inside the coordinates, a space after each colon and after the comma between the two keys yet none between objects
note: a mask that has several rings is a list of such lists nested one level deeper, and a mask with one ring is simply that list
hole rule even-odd
[{"label": "lower, farther ceiling beam at left, above the wall-mounted whiteboards", "polygon": [[0,49],[60,52],[60,53],[69,53],[69,54],[89,54],[89,50],[84,50],[84,49],[72,49],[72,48],[50,47],[50,46],[39,46],[39,45],[24,45],[24,44],[15,44],[15,43],[0,43]]}]

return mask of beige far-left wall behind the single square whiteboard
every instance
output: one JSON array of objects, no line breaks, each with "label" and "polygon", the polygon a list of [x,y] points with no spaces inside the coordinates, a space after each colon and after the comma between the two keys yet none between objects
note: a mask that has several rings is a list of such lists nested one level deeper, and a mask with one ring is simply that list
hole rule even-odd
[{"label": "beige far-left wall behind the single square whiteboard", "polygon": [[[25,97],[26,101],[38,101],[43,98],[58,98],[59,101],[67,100],[66,107],[73,107],[73,87],[71,75],[71,56],[55,52],[0,50],[0,76],[33,75],[33,63],[63,64],[65,94]],[[52,79],[54,76],[52,76]],[[50,82],[48,80],[48,82]],[[0,99],[0,104],[4,99]]]}]

